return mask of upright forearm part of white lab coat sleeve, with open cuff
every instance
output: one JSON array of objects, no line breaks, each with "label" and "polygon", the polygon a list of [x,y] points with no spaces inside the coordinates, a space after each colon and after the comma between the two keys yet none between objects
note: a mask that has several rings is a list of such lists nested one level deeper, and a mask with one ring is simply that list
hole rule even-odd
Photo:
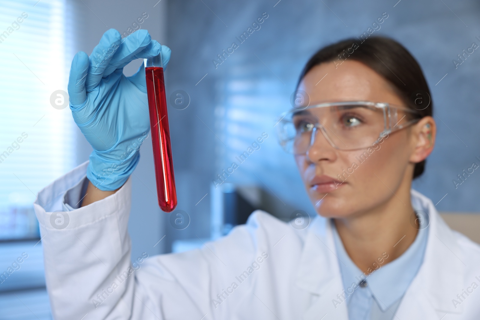
[{"label": "upright forearm part of white lab coat sleeve, with open cuff", "polygon": [[[131,180],[115,194],[62,212],[63,196],[85,176],[87,163],[41,190],[34,203],[44,251],[45,277],[54,319],[129,319],[133,278],[108,289],[116,275],[131,270],[127,233]],[[130,269],[129,269],[130,268]],[[120,272],[121,271],[121,272]],[[103,290],[112,291],[112,294]],[[97,294],[103,294],[98,303]],[[113,313],[112,313],[113,312]]]}]

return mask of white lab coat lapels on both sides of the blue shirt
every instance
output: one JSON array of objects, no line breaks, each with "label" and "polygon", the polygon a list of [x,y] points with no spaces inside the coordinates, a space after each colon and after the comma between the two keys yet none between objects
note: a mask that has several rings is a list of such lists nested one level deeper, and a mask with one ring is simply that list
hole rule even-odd
[{"label": "white lab coat lapels on both sides of the blue shirt", "polygon": [[[455,308],[452,303],[455,296],[449,293],[462,292],[463,277],[467,273],[462,260],[466,259],[463,258],[454,233],[440,217],[432,201],[416,190],[411,190],[411,195],[413,207],[422,208],[420,210],[429,215],[430,230],[423,263],[397,312],[417,316],[415,310],[418,312],[422,309],[425,315],[432,315],[432,319],[436,312],[461,313],[463,305]],[[337,260],[331,225],[324,217],[316,216],[307,231],[296,281],[300,288],[319,296],[311,310],[320,310],[321,306],[331,309],[332,299],[343,293]],[[345,313],[345,318],[337,319],[347,319],[346,303],[342,302],[336,307]],[[311,310],[307,311],[306,319],[310,319],[308,314]],[[427,316],[427,319],[430,318]]]}]

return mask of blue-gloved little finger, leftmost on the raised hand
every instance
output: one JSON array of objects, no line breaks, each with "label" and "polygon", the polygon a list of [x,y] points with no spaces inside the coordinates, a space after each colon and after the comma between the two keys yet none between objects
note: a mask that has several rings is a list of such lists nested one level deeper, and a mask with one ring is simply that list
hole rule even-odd
[{"label": "blue-gloved little finger, leftmost on the raised hand", "polygon": [[88,55],[80,51],[72,60],[72,68],[68,80],[68,95],[70,97],[70,106],[80,106],[87,99],[85,90],[85,81],[89,66]]}]

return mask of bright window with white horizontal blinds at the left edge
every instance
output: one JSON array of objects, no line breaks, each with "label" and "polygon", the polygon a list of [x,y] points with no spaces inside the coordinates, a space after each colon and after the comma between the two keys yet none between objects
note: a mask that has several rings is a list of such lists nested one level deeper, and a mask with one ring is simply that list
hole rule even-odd
[{"label": "bright window with white horizontal blinds at the left edge", "polygon": [[0,2],[0,239],[38,237],[36,193],[75,164],[65,1]]}]

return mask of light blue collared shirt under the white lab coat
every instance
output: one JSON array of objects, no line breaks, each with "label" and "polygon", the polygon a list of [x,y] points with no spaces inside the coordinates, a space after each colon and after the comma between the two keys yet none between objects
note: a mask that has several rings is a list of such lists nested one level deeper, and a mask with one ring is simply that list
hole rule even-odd
[{"label": "light blue collared shirt under the white lab coat", "polygon": [[[410,247],[394,261],[391,261],[388,252],[384,252],[378,257],[376,264],[372,263],[372,271],[369,270],[370,273],[366,274],[361,272],[350,259],[333,220],[330,220],[345,290],[345,295],[340,297],[338,302],[347,303],[349,320],[395,318],[396,309],[419,271],[425,254],[429,217],[424,212],[419,211],[419,213],[420,230]],[[360,286],[362,281],[364,282]]]}]

